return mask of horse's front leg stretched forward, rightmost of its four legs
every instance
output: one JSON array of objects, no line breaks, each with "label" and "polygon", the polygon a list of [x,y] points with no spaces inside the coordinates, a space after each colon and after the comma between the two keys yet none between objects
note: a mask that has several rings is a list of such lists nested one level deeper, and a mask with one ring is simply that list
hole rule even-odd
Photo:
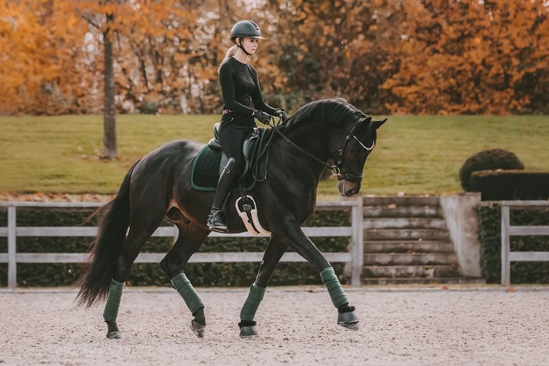
[{"label": "horse's front leg stretched forward, rightmost of its four legs", "polygon": [[285,223],[281,231],[281,239],[320,272],[320,278],[328,290],[331,302],[338,309],[338,324],[349,329],[358,330],[358,317],[355,313],[355,307],[349,306],[349,299],[347,299],[347,295],[341,287],[334,268],[314,243],[307,238],[297,222]]}]

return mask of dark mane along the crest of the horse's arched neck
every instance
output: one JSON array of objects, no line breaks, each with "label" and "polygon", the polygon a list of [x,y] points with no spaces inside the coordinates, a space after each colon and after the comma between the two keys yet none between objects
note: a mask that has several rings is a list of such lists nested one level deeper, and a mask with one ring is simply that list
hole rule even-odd
[{"label": "dark mane along the crest of the horse's arched neck", "polygon": [[279,126],[279,130],[288,132],[294,126],[307,120],[343,124],[351,117],[358,119],[366,117],[366,115],[342,98],[316,100],[299,108],[292,117],[286,119]]}]

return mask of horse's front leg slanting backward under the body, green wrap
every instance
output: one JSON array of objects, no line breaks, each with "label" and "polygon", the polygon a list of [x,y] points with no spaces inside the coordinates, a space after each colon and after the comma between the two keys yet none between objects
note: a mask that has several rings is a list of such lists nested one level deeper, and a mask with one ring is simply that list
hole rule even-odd
[{"label": "horse's front leg slanting backward under the body, green wrap", "polygon": [[240,336],[242,338],[257,336],[257,329],[255,328],[256,323],[254,320],[255,312],[257,312],[257,308],[259,308],[259,304],[261,304],[261,300],[263,300],[274,268],[277,266],[287,248],[288,247],[281,242],[277,236],[273,235],[270,238],[267,249],[265,249],[263,255],[263,260],[261,261],[261,266],[259,266],[259,272],[257,273],[255,282],[250,287],[248,297],[246,297],[242,310],[240,310],[240,323],[238,323],[238,326],[240,327]]}]

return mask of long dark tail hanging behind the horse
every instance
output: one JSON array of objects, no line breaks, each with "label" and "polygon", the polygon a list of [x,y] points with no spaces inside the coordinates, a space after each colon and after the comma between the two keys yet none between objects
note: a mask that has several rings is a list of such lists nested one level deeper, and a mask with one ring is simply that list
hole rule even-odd
[{"label": "long dark tail hanging behind the horse", "polygon": [[124,176],[124,181],[113,201],[100,207],[84,222],[99,217],[97,236],[90,244],[90,253],[82,266],[82,275],[76,282],[80,292],[78,305],[91,306],[103,301],[108,295],[110,279],[115,273],[115,264],[120,248],[130,225],[130,178],[135,165]]}]

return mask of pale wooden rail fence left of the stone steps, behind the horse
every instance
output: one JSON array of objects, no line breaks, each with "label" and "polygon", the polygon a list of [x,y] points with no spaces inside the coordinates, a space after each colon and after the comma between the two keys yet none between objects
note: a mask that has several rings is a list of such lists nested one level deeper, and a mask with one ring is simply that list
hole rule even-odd
[{"label": "pale wooden rail fence left of the stone steps, behind the horse", "polygon": [[[60,208],[60,209],[95,209],[103,203],[30,203],[4,202],[0,207],[8,209],[8,226],[0,227],[0,238],[8,237],[8,253],[0,253],[0,263],[8,263],[8,288],[17,286],[17,263],[80,263],[87,253],[17,253],[16,238],[22,236],[34,237],[93,237],[97,227],[17,227],[16,209],[20,208]],[[351,227],[304,227],[303,231],[310,237],[351,237],[351,251],[340,253],[325,253],[330,262],[346,262],[351,277],[352,286],[360,286],[360,276],[363,266],[363,219],[362,197],[348,199],[336,203],[318,203],[317,210],[349,210],[351,211]],[[178,230],[173,227],[159,227],[152,236],[177,238]],[[212,237],[254,237],[250,233],[222,234],[212,232]],[[158,263],[165,253],[140,253],[136,263]],[[261,252],[222,252],[195,253],[189,262],[261,262]],[[285,253],[281,262],[305,262],[297,253]]]}]

